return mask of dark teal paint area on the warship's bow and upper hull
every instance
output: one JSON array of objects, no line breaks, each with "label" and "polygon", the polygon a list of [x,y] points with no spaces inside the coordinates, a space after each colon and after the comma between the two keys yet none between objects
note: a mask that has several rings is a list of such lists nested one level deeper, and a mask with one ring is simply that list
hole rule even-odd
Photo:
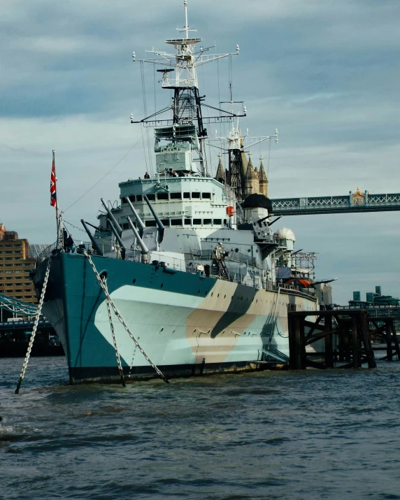
[{"label": "dark teal paint area on the warship's bow and upper hull", "polygon": [[[112,294],[124,285],[143,287],[146,289],[164,290],[194,297],[206,297],[215,285],[215,278],[206,278],[190,273],[176,271],[164,272],[162,267],[140,264],[131,261],[110,259],[107,257],[92,257],[99,273],[107,272],[108,292]],[[47,261],[43,262],[36,271],[44,278]],[[55,299],[61,299],[63,310],[55,311]],[[94,324],[94,317],[104,294],[99,287],[88,260],[83,255],[59,252],[53,257],[45,296],[43,312],[56,327],[66,352],[69,365],[70,383],[81,380],[107,380],[118,377],[115,365],[115,351],[113,346],[101,335]],[[55,317],[57,319],[55,319]],[[65,334],[63,334],[66,332]],[[123,358],[125,371],[129,369],[128,362]],[[139,369],[138,369],[139,368]],[[178,369],[178,366],[176,367]],[[131,373],[139,376],[152,377],[150,366],[134,367]],[[178,371],[187,374],[187,369],[180,367]],[[192,371],[192,368],[190,368]],[[105,376],[102,376],[101,373]],[[111,373],[115,372],[115,375]],[[172,374],[173,369],[169,369]],[[128,373],[128,372],[127,372]]]}]

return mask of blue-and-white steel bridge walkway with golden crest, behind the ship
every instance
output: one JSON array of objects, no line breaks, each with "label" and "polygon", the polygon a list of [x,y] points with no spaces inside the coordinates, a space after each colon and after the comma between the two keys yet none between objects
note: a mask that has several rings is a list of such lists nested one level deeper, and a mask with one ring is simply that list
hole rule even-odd
[{"label": "blue-and-white steel bridge walkway with golden crest, behind the ship", "polygon": [[311,215],[321,213],[360,213],[400,210],[400,193],[356,192],[338,197],[271,199],[273,215]]}]

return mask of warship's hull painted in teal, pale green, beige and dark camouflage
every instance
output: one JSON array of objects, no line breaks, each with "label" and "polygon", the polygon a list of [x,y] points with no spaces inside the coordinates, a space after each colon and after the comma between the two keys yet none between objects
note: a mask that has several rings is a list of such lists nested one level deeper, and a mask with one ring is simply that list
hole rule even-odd
[{"label": "warship's hull painted in teal, pale green, beige and dark camouflage", "polygon": [[[285,359],[288,304],[317,307],[315,299],[299,294],[107,257],[93,262],[107,272],[115,305],[166,376],[256,369],[268,345]],[[34,274],[38,293],[46,265]],[[83,255],[53,257],[43,313],[62,341],[71,384],[119,380],[106,300]],[[117,317],[114,325],[127,379],[156,376]]]}]

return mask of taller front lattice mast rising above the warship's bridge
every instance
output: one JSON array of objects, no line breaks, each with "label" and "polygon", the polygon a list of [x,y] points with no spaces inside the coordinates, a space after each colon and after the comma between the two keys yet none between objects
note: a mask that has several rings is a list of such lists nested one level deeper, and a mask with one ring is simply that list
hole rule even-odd
[{"label": "taller front lattice mast rising above the warship's bridge", "polygon": [[[143,118],[140,122],[134,122],[131,116],[131,123],[153,124],[155,126],[155,152],[157,171],[161,172],[165,169],[173,169],[173,171],[186,171],[188,173],[199,173],[201,176],[207,174],[206,149],[205,141],[207,138],[206,123],[221,122],[224,120],[232,120],[236,115],[231,112],[213,108],[203,103],[204,96],[199,94],[199,83],[197,80],[197,66],[208,62],[217,61],[231,55],[238,55],[239,48],[236,46],[236,52],[227,54],[206,54],[211,47],[200,47],[198,52],[195,52],[195,47],[201,42],[201,38],[191,38],[190,29],[187,21],[187,0],[184,0],[183,7],[185,9],[185,26],[178,28],[178,38],[169,38],[166,40],[168,45],[173,45],[176,53],[162,52],[159,50],[149,50],[156,56],[155,59],[142,59],[141,62],[157,64],[164,66],[164,69],[159,69],[162,73],[162,88],[173,90],[172,105],[164,108],[153,115]],[[180,36],[179,36],[180,35]],[[183,35],[183,36],[182,36]],[[133,60],[136,62],[135,52]],[[203,117],[202,108],[207,107],[212,110],[217,110],[219,115]],[[163,120],[158,115],[166,110],[172,110],[173,119]],[[166,126],[162,123],[168,123]],[[161,141],[169,141],[169,146],[160,145]],[[171,144],[174,145],[171,148]],[[168,154],[173,151],[183,152],[185,154],[185,165],[178,165],[174,162],[169,163]],[[199,158],[199,168],[194,166],[192,159],[192,151],[197,152]],[[157,155],[164,155],[164,159]],[[166,164],[168,163],[168,164]],[[171,167],[172,165],[172,167]],[[169,168],[171,167],[171,168]]]}]

